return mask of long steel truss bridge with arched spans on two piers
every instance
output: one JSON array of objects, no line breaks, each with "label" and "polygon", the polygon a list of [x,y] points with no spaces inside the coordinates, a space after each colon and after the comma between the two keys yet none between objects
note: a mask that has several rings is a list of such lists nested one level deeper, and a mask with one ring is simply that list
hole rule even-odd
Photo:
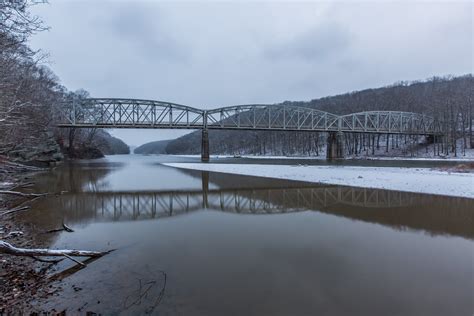
[{"label": "long steel truss bridge with arched spans on two piers", "polygon": [[[347,115],[292,105],[251,104],[201,110],[140,99],[93,98],[65,103],[59,127],[201,129],[202,158],[209,159],[209,129],[327,132],[328,158],[339,158],[343,133],[441,134],[432,117],[412,112],[368,111]],[[336,136],[339,134],[339,136]]]}]

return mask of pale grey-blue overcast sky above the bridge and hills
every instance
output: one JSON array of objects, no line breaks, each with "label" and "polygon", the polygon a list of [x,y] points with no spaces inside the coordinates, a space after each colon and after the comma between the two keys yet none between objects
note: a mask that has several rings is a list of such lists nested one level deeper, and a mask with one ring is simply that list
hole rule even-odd
[{"label": "pale grey-blue overcast sky above the bridge and hills", "polygon": [[[465,2],[50,0],[35,48],[70,90],[199,108],[310,100],[473,72]],[[128,144],[176,137],[116,130]]]}]

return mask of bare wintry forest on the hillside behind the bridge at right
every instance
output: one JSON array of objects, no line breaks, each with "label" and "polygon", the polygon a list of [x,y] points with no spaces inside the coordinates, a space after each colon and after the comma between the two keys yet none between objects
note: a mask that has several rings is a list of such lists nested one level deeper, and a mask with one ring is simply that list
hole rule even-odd
[{"label": "bare wintry forest on the hillside behind the bridge at right", "polygon": [[[447,137],[436,144],[437,155],[460,155],[474,148],[472,74],[432,77],[425,81],[397,82],[393,85],[329,96],[311,101],[285,101],[281,104],[318,109],[334,114],[391,110],[417,112],[443,123]],[[211,154],[324,155],[326,133],[210,130]],[[376,154],[397,150],[413,155],[427,142],[424,137],[347,133],[346,154]],[[169,142],[169,154],[199,154],[200,131]],[[383,148],[382,148],[383,147]]]}]

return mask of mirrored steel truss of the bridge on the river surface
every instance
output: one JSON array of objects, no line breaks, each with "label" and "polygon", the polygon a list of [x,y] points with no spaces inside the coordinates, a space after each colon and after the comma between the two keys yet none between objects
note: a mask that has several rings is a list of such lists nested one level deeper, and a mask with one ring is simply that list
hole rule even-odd
[{"label": "mirrored steel truss of the bridge on the river surface", "polygon": [[96,192],[63,195],[61,206],[95,210],[94,218],[112,221],[154,219],[213,209],[243,214],[279,214],[344,204],[372,208],[407,206],[411,195],[350,187],[258,188],[171,192]]}]

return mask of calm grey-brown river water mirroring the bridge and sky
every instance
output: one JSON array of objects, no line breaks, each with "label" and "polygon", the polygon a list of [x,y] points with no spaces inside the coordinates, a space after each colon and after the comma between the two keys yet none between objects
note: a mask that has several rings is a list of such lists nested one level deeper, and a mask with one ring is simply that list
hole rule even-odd
[{"label": "calm grey-brown river water mirroring the bridge and sky", "polygon": [[53,248],[117,250],[65,276],[62,291],[38,306],[106,315],[473,314],[474,200],[160,165],[170,161],[197,159],[115,156],[39,177],[37,190],[67,192],[39,200],[21,220],[75,229],[41,235]]}]

